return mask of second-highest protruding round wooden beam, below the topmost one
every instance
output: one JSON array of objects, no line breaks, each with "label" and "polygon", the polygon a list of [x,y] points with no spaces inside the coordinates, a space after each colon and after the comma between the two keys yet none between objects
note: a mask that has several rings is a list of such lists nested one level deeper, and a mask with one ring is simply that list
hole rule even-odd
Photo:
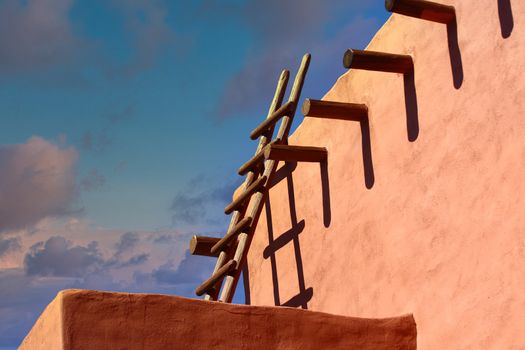
[{"label": "second-highest protruding round wooden beam, below the topmost one", "polygon": [[348,49],[343,58],[348,69],[364,69],[379,72],[408,74],[414,71],[414,62],[409,55]]}]

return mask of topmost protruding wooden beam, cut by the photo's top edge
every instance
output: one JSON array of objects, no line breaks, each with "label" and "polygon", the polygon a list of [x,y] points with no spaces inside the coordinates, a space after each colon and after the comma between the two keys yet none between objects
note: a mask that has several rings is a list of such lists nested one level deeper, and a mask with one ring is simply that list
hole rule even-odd
[{"label": "topmost protruding wooden beam, cut by the photo's top edge", "polygon": [[454,6],[424,0],[385,0],[387,11],[400,15],[439,23],[452,23],[456,20]]}]

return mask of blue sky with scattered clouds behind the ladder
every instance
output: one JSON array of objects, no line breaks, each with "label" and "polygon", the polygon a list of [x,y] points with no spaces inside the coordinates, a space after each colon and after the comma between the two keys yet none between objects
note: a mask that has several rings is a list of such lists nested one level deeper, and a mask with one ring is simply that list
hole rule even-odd
[{"label": "blue sky with scattered clouds behind the ladder", "polygon": [[302,97],[322,97],[387,17],[381,0],[0,0],[0,349],[64,288],[193,297],[213,260],[189,237],[226,229],[280,71],[310,52]]}]

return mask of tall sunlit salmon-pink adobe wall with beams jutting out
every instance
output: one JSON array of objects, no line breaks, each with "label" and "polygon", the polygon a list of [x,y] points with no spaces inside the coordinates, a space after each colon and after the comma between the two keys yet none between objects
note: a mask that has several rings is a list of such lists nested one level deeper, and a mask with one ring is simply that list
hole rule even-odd
[{"label": "tall sunlit salmon-pink adobe wall with beams jutting out", "polygon": [[393,15],[368,49],[412,55],[415,86],[351,70],[324,97],[368,105],[370,152],[356,122],[305,118],[290,137],[327,147],[327,172],[301,163],[271,189],[251,302],[414,313],[419,349],[523,349],[525,2],[439,2],[456,7],[459,51],[445,25]]}]

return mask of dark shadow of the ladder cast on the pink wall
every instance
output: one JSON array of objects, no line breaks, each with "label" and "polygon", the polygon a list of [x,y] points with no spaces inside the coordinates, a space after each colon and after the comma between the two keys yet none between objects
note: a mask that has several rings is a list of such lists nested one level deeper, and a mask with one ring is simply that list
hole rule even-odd
[{"label": "dark shadow of the ladder cast on the pink wall", "polygon": [[[292,168],[295,169],[295,167],[293,166]],[[286,182],[287,182],[288,201],[289,201],[289,207],[290,207],[290,220],[292,222],[292,227],[288,229],[287,231],[278,235],[277,238],[275,238],[275,234],[273,230],[272,210],[271,210],[270,199],[269,199],[269,196],[266,196],[264,207],[266,210],[266,226],[268,228],[269,244],[263,251],[263,257],[265,259],[270,259],[270,264],[271,264],[271,269],[272,269],[273,297],[274,297],[275,305],[276,306],[288,306],[288,307],[301,307],[303,309],[308,309],[308,302],[313,297],[313,288],[312,287],[306,288],[306,282],[304,278],[303,259],[302,259],[302,254],[301,254],[299,235],[305,228],[305,221],[297,220],[297,212],[296,212],[296,206],[295,206],[295,192],[294,192],[292,172],[293,170],[288,171],[286,176],[281,178],[282,180],[286,179]],[[323,171],[321,171],[321,173],[323,173]],[[326,177],[326,179],[327,178],[328,177]],[[281,297],[279,294],[279,277],[277,273],[276,253],[279,249],[285,247],[289,243],[292,243],[293,248],[294,248],[294,256],[295,256],[296,269],[297,269],[297,281],[298,281],[299,292],[295,296],[290,298],[289,300],[285,302],[281,302]]]}]

